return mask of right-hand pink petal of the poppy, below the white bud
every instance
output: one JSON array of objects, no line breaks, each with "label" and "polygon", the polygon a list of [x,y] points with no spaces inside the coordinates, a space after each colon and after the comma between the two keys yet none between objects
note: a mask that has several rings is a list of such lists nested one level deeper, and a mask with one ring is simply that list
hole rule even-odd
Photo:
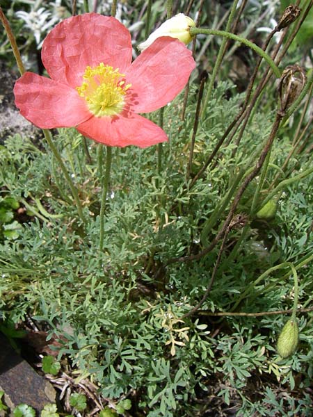
[{"label": "right-hand pink petal of the poppy, below the white bud", "polygon": [[126,71],[133,94],[131,111],[149,113],[168,104],[186,85],[195,60],[177,39],[158,38]]}]

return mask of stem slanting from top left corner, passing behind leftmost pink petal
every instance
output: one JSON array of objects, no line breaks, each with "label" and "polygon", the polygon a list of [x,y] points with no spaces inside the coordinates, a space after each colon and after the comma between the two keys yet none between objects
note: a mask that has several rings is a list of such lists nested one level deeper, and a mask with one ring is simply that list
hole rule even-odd
[{"label": "stem slanting from top left corner, passing behind leftmost pink petal", "polygon": [[[6,31],[6,34],[8,36],[8,40],[10,41],[11,47],[13,49],[13,54],[15,56],[15,60],[17,63],[17,67],[19,68],[19,72],[21,75],[25,72],[25,67],[23,65],[21,54],[19,54],[19,49],[17,47],[17,43],[15,40],[15,36],[13,35],[12,29],[10,28],[10,24],[8,22],[8,19],[6,19],[6,16],[3,14],[3,11],[0,7],[0,20],[4,26],[4,29]],[[81,201],[79,199],[79,195],[77,193],[77,189],[74,186],[74,183],[70,177],[70,174],[67,172],[67,169],[63,163],[61,155],[58,153],[58,149],[56,149],[56,146],[54,145],[54,142],[52,141],[52,135],[51,132],[47,129],[42,129],[42,132],[44,133],[45,139],[47,141],[47,144],[49,145],[52,153],[54,154],[56,161],[58,161],[58,164],[61,167],[61,170],[63,172],[63,175],[67,181],[67,185],[70,187],[70,190],[72,191],[72,195],[74,197],[74,200],[77,204],[77,211],[79,213],[79,218],[81,218],[82,222],[86,222],[84,216],[83,216],[83,209],[81,206]]]}]

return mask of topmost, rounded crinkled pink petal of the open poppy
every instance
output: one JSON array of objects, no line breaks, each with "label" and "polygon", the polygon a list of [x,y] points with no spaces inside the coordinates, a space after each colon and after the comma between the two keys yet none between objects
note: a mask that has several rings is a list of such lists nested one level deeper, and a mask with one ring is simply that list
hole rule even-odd
[{"label": "topmost, rounded crinkled pink petal of the open poppy", "polygon": [[86,67],[99,63],[124,72],[131,63],[131,36],[115,17],[86,13],[57,24],[42,45],[42,63],[51,79],[81,85]]}]

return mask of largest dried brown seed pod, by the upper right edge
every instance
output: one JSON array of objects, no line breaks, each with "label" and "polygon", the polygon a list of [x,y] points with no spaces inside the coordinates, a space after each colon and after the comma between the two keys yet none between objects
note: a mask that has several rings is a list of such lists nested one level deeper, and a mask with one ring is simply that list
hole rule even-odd
[{"label": "largest dried brown seed pod, by the upper right edge", "polygon": [[282,72],[279,85],[280,110],[286,111],[296,101],[307,77],[299,65],[289,65]]}]

